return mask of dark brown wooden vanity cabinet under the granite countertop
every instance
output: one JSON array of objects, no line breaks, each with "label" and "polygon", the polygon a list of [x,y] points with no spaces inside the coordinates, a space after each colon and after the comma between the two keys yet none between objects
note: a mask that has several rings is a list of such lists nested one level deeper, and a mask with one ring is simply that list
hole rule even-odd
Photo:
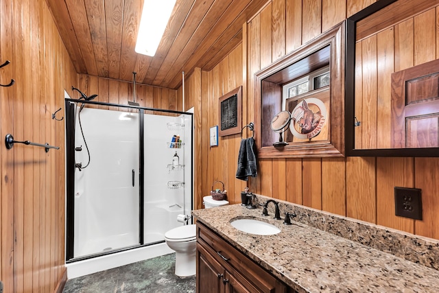
[{"label": "dark brown wooden vanity cabinet under the granite countertop", "polygon": [[197,222],[198,293],[292,293],[287,285]]}]

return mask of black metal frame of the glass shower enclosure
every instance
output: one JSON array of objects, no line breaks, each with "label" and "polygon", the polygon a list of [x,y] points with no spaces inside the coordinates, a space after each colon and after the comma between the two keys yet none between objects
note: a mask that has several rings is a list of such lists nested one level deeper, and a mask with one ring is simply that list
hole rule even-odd
[{"label": "black metal frame of the glass shower enclosure", "polygon": [[[108,252],[95,253],[93,255],[86,255],[84,257],[73,257],[74,253],[74,241],[75,241],[75,104],[93,104],[99,106],[112,106],[119,108],[130,108],[139,110],[139,244],[133,246],[127,246],[115,250],[110,250]],[[154,242],[151,244],[144,244],[144,191],[145,191],[145,180],[144,180],[144,121],[145,121],[145,110],[161,112],[161,113],[172,113],[178,115],[190,115],[191,117],[191,141],[193,140],[193,113],[181,112],[176,110],[164,110],[156,108],[145,108],[142,106],[130,106],[123,104],[113,104],[106,102],[95,102],[95,101],[84,101],[82,99],[65,99],[65,116],[66,116],[66,263],[71,263],[74,261],[80,261],[84,259],[92,259],[94,257],[100,257],[102,255],[111,255],[113,253],[119,253],[121,251],[130,250],[132,248],[139,248],[142,246],[150,246],[157,243],[165,242],[165,240],[160,242]],[[69,118],[68,118],[69,117]],[[71,119],[73,117],[73,119]],[[193,143],[191,143],[191,194],[193,194]],[[193,209],[193,196],[191,195],[191,209]]]}]

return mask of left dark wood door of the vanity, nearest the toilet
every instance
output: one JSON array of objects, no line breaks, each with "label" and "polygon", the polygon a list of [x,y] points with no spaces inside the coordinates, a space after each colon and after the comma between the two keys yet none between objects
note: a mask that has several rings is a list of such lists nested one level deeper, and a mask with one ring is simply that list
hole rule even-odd
[{"label": "left dark wood door of the vanity, nearest the toilet", "polygon": [[197,243],[197,293],[224,293],[224,267]]}]

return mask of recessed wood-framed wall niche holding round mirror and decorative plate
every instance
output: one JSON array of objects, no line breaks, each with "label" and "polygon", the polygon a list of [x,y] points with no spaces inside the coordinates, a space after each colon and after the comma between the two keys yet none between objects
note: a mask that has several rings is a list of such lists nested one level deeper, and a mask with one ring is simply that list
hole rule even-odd
[{"label": "recessed wood-framed wall niche holding round mirror and decorative plate", "polygon": [[[254,136],[259,158],[344,156],[344,32],[343,22],[255,74],[254,119],[258,123],[255,123],[257,129]],[[309,89],[307,93],[283,102],[285,84],[309,78],[314,72],[327,68],[329,85],[318,90]],[[283,141],[287,144],[279,147],[276,145],[279,133],[272,130],[272,119],[282,110],[288,110],[292,114],[289,116],[292,117],[291,124],[294,124],[298,119],[295,117],[296,120],[293,120],[293,114],[297,107],[303,105],[304,100],[315,100],[318,102],[316,104],[324,104],[313,110],[313,113],[327,114],[322,130],[313,137],[304,138],[301,133],[306,132],[284,128]],[[324,108],[324,111],[320,108]]]}]

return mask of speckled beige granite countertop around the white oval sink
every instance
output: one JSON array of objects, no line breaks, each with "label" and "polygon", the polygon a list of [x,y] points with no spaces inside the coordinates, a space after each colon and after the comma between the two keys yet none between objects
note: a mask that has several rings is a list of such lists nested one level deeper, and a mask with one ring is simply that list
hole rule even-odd
[{"label": "speckled beige granite countertop around the white oval sink", "polygon": [[[273,204],[270,204],[273,206]],[[282,210],[281,210],[282,211]],[[250,259],[298,292],[438,292],[439,271],[391,253],[295,222],[263,217],[241,204],[192,211]],[[283,218],[283,213],[281,213]],[[281,228],[276,235],[244,233],[231,224],[257,218]],[[436,260],[437,261],[437,260]]]}]

